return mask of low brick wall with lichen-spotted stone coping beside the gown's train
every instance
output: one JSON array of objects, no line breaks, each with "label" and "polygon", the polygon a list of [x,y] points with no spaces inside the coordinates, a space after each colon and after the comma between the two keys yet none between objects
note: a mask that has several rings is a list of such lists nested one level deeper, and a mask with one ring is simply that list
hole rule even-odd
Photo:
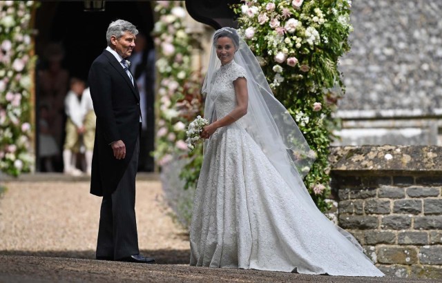
[{"label": "low brick wall with lichen-spotted stone coping beside the gown's train", "polygon": [[442,147],[332,148],[338,223],[387,275],[442,278]]}]

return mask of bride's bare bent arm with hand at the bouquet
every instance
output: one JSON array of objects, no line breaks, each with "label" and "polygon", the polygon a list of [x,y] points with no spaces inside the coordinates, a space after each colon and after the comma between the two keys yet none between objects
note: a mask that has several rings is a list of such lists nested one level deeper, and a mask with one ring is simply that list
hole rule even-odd
[{"label": "bride's bare bent arm with hand at the bouquet", "polygon": [[247,106],[249,103],[249,93],[247,92],[247,80],[244,77],[239,77],[233,81],[233,86],[235,87],[236,102],[237,106],[227,114],[222,119],[214,121],[209,126],[205,126],[202,130],[201,137],[207,139],[215,130],[224,126],[232,124],[234,121],[240,119],[242,116],[247,114]]}]

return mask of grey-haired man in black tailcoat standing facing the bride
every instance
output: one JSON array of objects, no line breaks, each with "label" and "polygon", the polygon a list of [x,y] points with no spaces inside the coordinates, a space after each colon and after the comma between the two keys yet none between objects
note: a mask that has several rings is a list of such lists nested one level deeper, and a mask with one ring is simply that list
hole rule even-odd
[{"label": "grey-haired man in black tailcoat standing facing the bride", "polygon": [[138,30],[113,21],[108,46],[89,71],[90,95],[97,115],[90,193],[103,196],[97,260],[154,263],[140,255],[135,219],[135,176],[140,153],[140,92],[126,58]]}]

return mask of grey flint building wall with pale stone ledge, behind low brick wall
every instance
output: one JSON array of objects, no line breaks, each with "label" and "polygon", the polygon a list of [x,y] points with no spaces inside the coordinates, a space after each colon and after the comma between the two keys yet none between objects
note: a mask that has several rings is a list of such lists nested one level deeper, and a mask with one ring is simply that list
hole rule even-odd
[{"label": "grey flint building wall with pale stone ledge, behind low brick wall", "polygon": [[336,145],[442,145],[442,1],[352,1]]}]

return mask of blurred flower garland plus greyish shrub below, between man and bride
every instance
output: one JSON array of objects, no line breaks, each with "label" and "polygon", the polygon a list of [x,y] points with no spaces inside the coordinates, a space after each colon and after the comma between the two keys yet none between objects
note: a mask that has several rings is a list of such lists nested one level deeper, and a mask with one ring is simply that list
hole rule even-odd
[{"label": "blurred flower garland plus greyish shrub below, between man and bride", "polygon": [[189,153],[186,127],[202,115],[202,77],[192,70],[194,40],[184,25],[184,1],[157,1],[153,36],[157,50],[157,135],[155,160],[161,166],[166,202],[184,227],[190,225],[195,188],[202,164],[202,144]]}]

